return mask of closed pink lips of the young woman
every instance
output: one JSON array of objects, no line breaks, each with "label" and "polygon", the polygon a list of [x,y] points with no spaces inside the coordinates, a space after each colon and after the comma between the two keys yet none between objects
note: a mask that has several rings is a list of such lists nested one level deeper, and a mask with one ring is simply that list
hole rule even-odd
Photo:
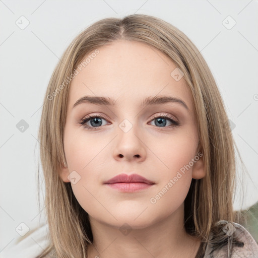
[{"label": "closed pink lips of the young woman", "polygon": [[119,174],[104,182],[104,184],[120,191],[134,192],[149,188],[151,185],[155,184],[155,182],[138,174]]}]

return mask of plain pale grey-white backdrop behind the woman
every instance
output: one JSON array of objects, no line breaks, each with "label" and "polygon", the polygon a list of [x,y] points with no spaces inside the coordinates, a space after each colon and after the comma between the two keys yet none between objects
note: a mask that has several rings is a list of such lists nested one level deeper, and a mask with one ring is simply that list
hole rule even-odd
[{"label": "plain pale grey-white backdrop behind the woman", "polygon": [[[20,237],[20,223],[31,230],[44,220],[37,202],[37,135],[43,97],[58,58],[82,30],[107,17],[156,16],[196,44],[219,86],[250,174],[244,177],[242,208],[257,202],[257,11],[258,2],[250,0],[0,1],[0,252]],[[244,185],[242,177],[237,185]],[[234,208],[239,207],[236,201]]]}]

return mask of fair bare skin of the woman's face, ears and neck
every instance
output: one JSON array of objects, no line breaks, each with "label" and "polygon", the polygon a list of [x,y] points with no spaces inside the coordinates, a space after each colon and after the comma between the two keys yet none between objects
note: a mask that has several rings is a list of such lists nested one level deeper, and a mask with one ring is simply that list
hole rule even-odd
[{"label": "fair bare skin of the woman's face, ears and neck", "polygon": [[[198,127],[193,99],[183,78],[170,73],[175,64],[159,50],[141,42],[115,41],[99,48],[100,53],[73,79],[64,128],[67,166],[60,177],[70,182],[76,171],[80,180],[71,183],[74,195],[89,214],[94,247],[89,257],[195,257],[200,240],[186,234],[183,227],[184,199],[191,179],[205,176],[203,158],[196,161],[175,184],[157,200],[150,202],[198,153]],[[88,55],[88,54],[87,54]],[[117,106],[75,102],[85,96],[110,97]],[[180,98],[188,106],[165,103],[140,108],[149,96]],[[104,115],[88,130],[79,122],[90,115]],[[175,117],[174,127],[163,114]],[[119,124],[127,119],[131,130]],[[92,122],[92,123],[91,123]],[[92,125],[93,124],[93,125]],[[120,192],[103,182],[120,173],[137,173],[155,182],[138,192]],[[78,177],[77,177],[78,178]],[[119,228],[127,223],[131,232]]]}]

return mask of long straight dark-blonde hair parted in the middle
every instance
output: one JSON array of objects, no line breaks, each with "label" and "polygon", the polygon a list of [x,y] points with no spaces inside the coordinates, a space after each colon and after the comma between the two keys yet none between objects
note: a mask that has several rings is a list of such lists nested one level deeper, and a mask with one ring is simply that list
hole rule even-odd
[{"label": "long straight dark-blonde hair parted in the middle", "polygon": [[40,257],[46,253],[58,258],[87,257],[87,246],[93,243],[88,214],[77,202],[71,183],[63,182],[58,173],[66,165],[63,131],[76,68],[86,54],[120,39],[146,43],[167,55],[183,72],[192,93],[206,176],[192,179],[184,202],[186,232],[203,241],[210,241],[209,234],[214,232],[221,242],[227,235],[220,233],[216,222],[238,222],[233,211],[237,147],[222,97],[202,54],[185,34],[159,18],[143,14],[106,18],[89,26],[69,45],[44,97],[39,141],[51,244]]}]

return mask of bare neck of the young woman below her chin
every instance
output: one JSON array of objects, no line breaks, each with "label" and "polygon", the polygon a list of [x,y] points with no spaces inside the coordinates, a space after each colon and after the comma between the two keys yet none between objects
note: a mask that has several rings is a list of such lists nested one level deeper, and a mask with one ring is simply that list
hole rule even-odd
[{"label": "bare neck of the young woman below her chin", "polygon": [[[183,204],[169,217],[147,223],[144,228],[119,230],[119,226],[103,224],[90,217],[93,245],[88,248],[89,258],[195,258],[201,244],[184,229]],[[123,223],[121,223],[122,225]]]}]

